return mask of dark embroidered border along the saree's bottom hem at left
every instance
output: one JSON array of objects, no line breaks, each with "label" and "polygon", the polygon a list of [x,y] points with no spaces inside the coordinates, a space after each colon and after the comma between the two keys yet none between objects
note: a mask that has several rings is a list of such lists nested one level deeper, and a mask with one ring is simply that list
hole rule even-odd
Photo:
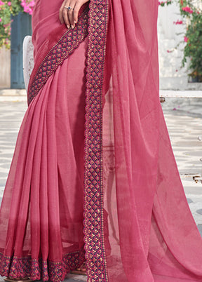
[{"label": "dark embroidered border along the saree's bottom hem at left", "polygon": [[67,274],[80,267],[85,261],[84,250],[67,253],[61,262],[50,260],[34,260],[31,257],[7,257],[0,253],[0,274],[10,278],[25,278],[31,280],[55,281],[65,280]]}]

